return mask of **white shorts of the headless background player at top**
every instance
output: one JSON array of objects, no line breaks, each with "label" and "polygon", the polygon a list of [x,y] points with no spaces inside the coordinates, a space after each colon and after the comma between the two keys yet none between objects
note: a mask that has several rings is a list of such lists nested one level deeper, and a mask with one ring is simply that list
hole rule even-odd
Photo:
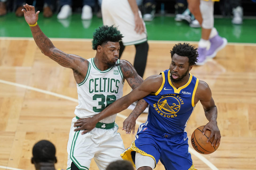
[{"label": "white shorts of the headless background player at top", "polygon": [[[127,0],[103,0],[101,4],[103,25],[114,25],[123,34],[123,45],[135,45],[147,41],[147,31],[137,33],[134,15]],[[142,18],[141,11],[139,15]]]}]

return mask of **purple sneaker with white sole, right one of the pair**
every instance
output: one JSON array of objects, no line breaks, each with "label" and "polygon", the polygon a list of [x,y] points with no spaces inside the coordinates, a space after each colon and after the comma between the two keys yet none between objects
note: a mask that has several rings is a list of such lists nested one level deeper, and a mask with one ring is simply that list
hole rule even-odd
[{"label": "purple sneaker with white sole, right one of the pair", "polygon": [[206,53],[207,58],[214,58],[217,52],[227,45],[227,39],[220,37],[218,34],[210,39],[211,46]]}]

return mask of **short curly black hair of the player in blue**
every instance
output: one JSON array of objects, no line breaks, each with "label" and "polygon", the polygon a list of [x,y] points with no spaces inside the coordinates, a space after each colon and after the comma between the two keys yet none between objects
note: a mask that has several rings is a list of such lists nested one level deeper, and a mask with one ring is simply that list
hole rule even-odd
[{"label": "short curly black hair of the player in blue", "polygon": [[173,50],[171,50],[171,58],[173,58],[174,54],[178,54],[183,57],[189,58],[189,65],[195,65],[198,57],[197,48],[195,46],[190,45],[189,43],[178,43],[173,46]]}]

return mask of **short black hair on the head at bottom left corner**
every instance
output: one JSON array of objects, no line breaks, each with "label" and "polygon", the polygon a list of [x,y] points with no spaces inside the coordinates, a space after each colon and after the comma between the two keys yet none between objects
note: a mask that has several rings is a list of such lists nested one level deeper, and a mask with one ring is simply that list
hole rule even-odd
[{"label": "short black hair on the head at bottom left corner", "polygon": [[33,147],[33,160],[35,163],[54,162],[56,160],[55,152],[55,146],[50,141],[41,140]]}]

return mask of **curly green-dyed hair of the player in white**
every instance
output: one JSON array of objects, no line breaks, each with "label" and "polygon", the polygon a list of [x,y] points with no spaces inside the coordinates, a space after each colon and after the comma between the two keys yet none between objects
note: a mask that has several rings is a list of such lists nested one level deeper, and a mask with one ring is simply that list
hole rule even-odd
[{"label": "curly green-dyed hair of the player in white", "polygon": [[119,42],[122,40],[122,38],[123,35],[120,33],[117,27],[114,27],[113,25],[110,27],[103,25],[102,27],[96,29],[96,31],[93,33],[93,50],[96,50],[98,45],[102,45],[108,41]]}]

